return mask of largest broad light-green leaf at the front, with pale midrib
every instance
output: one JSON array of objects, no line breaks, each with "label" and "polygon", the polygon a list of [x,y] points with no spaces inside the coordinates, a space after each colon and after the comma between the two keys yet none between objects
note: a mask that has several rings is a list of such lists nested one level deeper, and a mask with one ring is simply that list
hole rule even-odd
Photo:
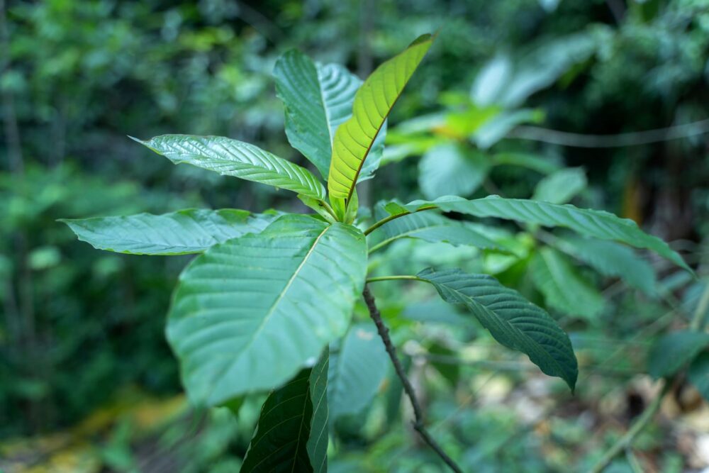
[{"label": "largest broad light-green leaf at the front, with pale midrib", "polygon": [[345,333],[366,267],[361,231],[299,215],[196,257],[167,323],[189,398],[218,405],[291,379]]}]

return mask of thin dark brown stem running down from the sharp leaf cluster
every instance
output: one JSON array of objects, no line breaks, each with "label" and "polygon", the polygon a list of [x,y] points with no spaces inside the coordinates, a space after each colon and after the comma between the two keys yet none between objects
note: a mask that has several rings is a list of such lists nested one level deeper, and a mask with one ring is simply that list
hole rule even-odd
[{"label": "thin dark brown stem running down from the sharp leaf cluster", "polygon": [[411,406],[413,407],[413,416],[415,419],[412,422],[413,428],[418,432],[421,438],[423,438],[424,442],[427,443],[428,446],[436,452],[436,454],[441,458],[441,460],[443,460],[445,464],[450,467],[450,469],[452,469],[456,473],[462,473],[463,470],[456,464],[456,462],[451,459],[451,457],[447,455],[446,452],[443,451],[442,447],[438,445],[435,440],[433,440],[431,435],[428,433],[428,430],[426,430],[425,425],[423,424],[423,408],[421,408],[421,405],[419,404],[418,399],[416,398],[416,394],[413,391],[413,386],[411,386],[411,382],[408,380],[408,377],[406,377],[406,372],[404,371],[403,366],[401,365],[401,360],[399,360],[398,356],[396,355],[396,347],[394,347],[393,343],[391,342],[391,338],[389,338],[389,328],[387,328],[386,325],[384,325],[384,321],[381,320],[381,313],[379,313],[379,309],[376,308],[376,302],[374,301],[374,296],[372,296],[372,292],[369,291],[369,286],[364,286],[364,292],[362,293],[362,295],[364,296],[364,301],[367,302],[369,316],[372,317],[374,325],[376,325],[376,330],[377,332],[379,332],[379,337],[381,337],[381,341],[384,342],[386,352],[389,353],[389,358],[391,358],[391,362],[394,365],[396,375],[399,377],[399,379],[401,379],[403,390],[406,392],[406,396],[408,396],[408,399],[411,401]]}]

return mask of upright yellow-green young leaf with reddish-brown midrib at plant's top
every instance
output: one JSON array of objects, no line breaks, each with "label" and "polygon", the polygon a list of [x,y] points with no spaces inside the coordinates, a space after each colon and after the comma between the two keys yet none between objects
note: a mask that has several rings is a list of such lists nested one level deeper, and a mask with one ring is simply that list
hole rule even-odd
[{"label": "upright yellow-green young leaf with reddish-brown midrib at plant's top", "polygon": [[337,128],[333,140],[328,178],[331,199],[350,200],[376,135],[432,41],[431,35],[421,36],[405,51],[377,67],[357,91],[352,117]]}]

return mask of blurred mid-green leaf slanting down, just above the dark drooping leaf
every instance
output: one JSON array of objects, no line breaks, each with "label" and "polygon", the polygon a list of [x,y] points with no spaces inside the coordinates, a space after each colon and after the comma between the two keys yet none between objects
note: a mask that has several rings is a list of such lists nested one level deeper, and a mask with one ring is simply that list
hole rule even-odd
[{"label": "blurred mid-green leaf slanting down, just above the dark drooping leaf", "polygon": [[530,272],[547,306],[585,318],[593,318],[603,311],[601,293],[557,250],[540,248],[532,257]]}]

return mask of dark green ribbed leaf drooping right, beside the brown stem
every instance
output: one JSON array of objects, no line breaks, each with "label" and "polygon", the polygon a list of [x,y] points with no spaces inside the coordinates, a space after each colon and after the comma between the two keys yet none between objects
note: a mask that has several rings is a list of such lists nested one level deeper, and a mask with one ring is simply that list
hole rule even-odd
[{"label": "dark green ribbed leaf drooping right, beside the brown stem", "polygon": [[579,368],[569,337],[542,308],[486,274],[460,269],[424,269],[418,275],[435,286],[443,300],[463,304],[499,343],[525,353],[549,376],[571,390]]}]

